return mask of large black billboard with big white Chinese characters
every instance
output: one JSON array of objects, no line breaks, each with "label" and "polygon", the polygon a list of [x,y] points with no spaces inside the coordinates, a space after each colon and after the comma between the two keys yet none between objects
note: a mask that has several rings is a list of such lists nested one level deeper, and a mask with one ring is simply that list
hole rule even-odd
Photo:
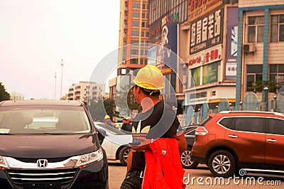
[{"label": "large black billboard with big white Chinese characters", "polygon": [[212,11],[190,26],[190,54],[222,43],[223,9]]}]

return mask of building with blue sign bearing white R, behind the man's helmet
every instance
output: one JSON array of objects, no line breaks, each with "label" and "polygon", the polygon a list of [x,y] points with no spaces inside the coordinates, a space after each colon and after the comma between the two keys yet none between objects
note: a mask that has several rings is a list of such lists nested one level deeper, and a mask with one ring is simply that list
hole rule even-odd
[{"label": "building with blue sign bearing white R, behind the man's helmet", "polygon": [[156,61],[148,60],[148,64],[157,66],[169,81],[163,90],[164,99],[177,106],[178,114],[182,114],[185,99],[182,78],[177,74],[180,75],[178,57],[182,61],[188,59],[188,27],[183,26],[187,21],[187,4],[188,0],[149,0],[149,43],[156,45],[148,53]]}]

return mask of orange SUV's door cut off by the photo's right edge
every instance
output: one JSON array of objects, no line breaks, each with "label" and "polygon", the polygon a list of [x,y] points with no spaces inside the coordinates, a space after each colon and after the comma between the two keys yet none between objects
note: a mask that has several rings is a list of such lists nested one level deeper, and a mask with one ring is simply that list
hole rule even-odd
[{"label": "orange SUV's door cut off by the photo's right edge", "polygon": [[267,118],[266,164],[284,165],[284,120]]}]

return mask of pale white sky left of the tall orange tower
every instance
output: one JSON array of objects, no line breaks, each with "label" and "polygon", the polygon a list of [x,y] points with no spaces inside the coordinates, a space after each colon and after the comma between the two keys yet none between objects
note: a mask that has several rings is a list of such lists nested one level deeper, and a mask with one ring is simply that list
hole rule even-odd
[{"label": "pale white sky left of the tall orange tower", "polygon": [[[0,0],[0,82],[29,98],[60,97],[119,44],[119,0]],[[55,72],[56,96],[55,96]]]}]

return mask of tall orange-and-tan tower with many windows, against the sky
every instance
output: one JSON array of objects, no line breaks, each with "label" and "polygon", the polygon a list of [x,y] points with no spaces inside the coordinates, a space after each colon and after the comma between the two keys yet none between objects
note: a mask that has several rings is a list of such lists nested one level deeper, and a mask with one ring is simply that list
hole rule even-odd
[{"label": "tall orange-and-tan tower with many windows, against the sky", "polygon": [[[114,99],[116,82],[129,72],[147,65],[148,0],[121,0],[119,16],[119,58],[117,77],[109,82],[109,97]],[[130,83],[129,83],[130,84]]]}]

